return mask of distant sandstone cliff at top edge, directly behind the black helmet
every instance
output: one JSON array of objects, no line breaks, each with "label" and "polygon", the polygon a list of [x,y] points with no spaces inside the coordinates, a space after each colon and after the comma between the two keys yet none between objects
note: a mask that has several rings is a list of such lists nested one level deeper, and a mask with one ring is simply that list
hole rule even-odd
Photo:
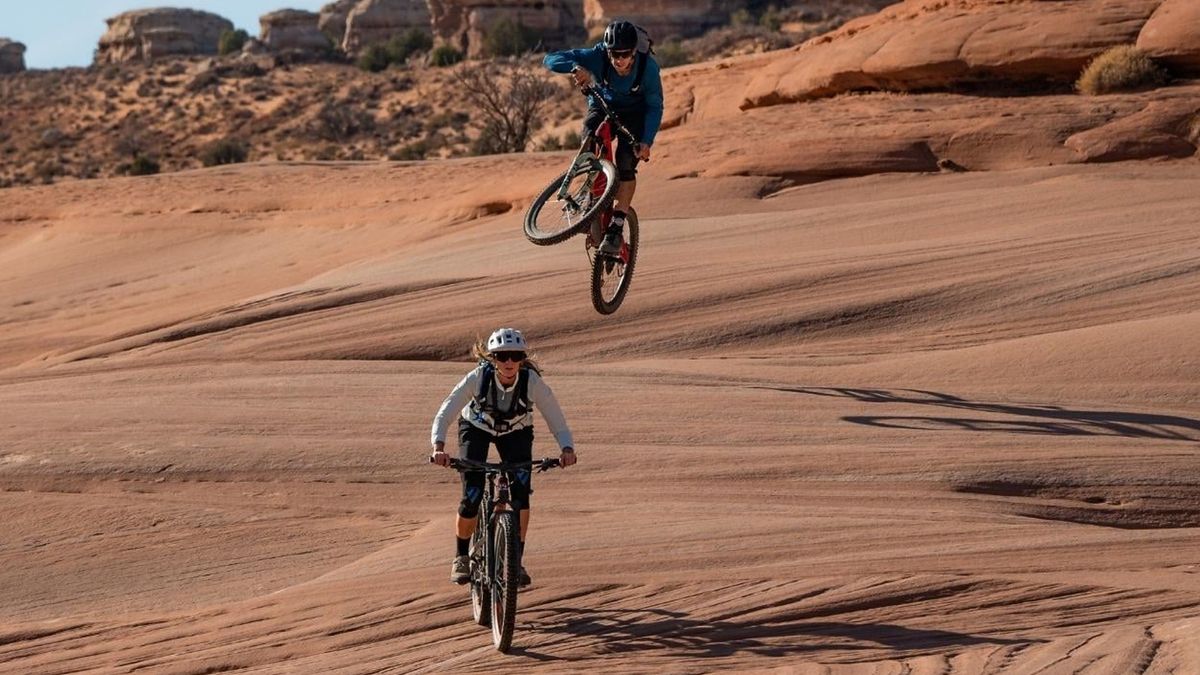
[{"label": "distant sandstone cliff at top edge, directly behind the black helmet", "polygon": [[744,5],[737,0],[584,0],[583,16],[590,36],[620,18],[644,26],[661,41],[700,35],[726,23],[730,12]]}]

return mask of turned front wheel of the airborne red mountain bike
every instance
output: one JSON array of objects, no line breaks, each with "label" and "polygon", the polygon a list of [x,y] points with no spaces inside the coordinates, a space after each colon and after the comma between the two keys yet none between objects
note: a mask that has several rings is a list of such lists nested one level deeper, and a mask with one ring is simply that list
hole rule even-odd
[{"label": "turned front wheel of the airborne red mountain bike", "polygon": [[[566,193],[559,197],[563,181]],[[608,208],[617,192],[617,167],[592,159],[572,166],[538,195],[526,211],[526,239],[539,246],[565,241],[587,229],[588,222]]]}]

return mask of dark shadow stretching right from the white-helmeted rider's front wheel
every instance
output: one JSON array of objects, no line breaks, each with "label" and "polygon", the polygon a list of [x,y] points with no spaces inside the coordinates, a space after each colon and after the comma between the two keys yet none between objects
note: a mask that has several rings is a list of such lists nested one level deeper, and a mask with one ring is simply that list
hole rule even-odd
[{"label": "dark shadow stretching right from the white-helmeted rider's front wheel", "polygon": [[[522,631],[587,638],[601,652],[668,651],[680,656],[726,657],[737,653],[794,656],[821,651],[863,652],[872,649],[918,656],[972,645],[1014,645],[1013,640],[907,628],[894,623],[833,621],[706,621],[664,609],[602,610],[580,607],[530,609],[518,619]],[[1037,641],[1037,640],[1033,640]],[[535,659],[552,659],[529,649],[514,650]]]}]

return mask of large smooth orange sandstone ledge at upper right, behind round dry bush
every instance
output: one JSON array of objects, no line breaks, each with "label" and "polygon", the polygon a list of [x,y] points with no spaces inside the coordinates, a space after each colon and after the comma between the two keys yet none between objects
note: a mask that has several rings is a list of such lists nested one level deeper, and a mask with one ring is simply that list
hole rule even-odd
[{"label": "large smooth orange sandstone ledge at upper right, behind round dry bush", "polygon": [[1087,61],[1138,43],[1200,70],[1193,0],[907,0],[796,48],[746,88],[743,108],[853,90],[977,82],[1069,83]]}]

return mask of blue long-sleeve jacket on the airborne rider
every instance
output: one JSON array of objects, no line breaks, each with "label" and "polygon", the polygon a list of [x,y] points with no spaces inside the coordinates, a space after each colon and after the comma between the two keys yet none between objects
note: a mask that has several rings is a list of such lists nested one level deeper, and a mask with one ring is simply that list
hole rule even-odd
[{"label": "blue long-sleeve jacket on the airborne rider", "polygon": [[[637,77],[637,62],[630,68],[629,74],[622,77],[617,74],[617,68],[608,65],[607,96],[608,104],[618,110],[635,108],[646,104],[646,126],[642,129],[642,143],[654,144],[654,137],[662,125],[662,76],[659,64],[649,54],[637,54],[638,59],[647,59],[646,73],[642,76],[642,86],[634,91],[634,80]],[[563,52],[551,52],[546,54],[542,62],[547,68],[569,73],[580,66],[592,73],[592,78],[604,84],[605,64],[608,54],[604,43],[598,43],[590,49],[564,49]]]}]

